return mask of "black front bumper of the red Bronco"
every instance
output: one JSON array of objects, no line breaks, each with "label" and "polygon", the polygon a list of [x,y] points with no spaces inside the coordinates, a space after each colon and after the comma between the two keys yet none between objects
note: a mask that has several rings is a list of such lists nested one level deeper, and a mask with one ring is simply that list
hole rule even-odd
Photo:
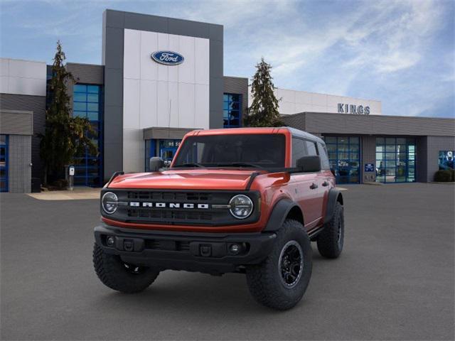
[{"label": "black front bumper of the red Bronco", "polygon": [[[114,243],[109,246],[108,237]],[[259,264],[270,253],[274,233],[200,233],[122,229],[106,224],[95,227],[95,240],[122,261],[161,269],[222,274]],[[112,241],[112,239],[111,239]],[[237,244],[239,251],[231,251]]]}]

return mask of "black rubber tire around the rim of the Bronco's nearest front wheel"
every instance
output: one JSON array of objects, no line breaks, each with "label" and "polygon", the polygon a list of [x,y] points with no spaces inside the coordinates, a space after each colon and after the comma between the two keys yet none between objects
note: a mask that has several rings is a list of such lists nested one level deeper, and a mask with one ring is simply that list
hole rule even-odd
[{"label": "black rubber tire around the rim of the Bronco's nearest front wheel", "polygon": [[[282,282],[279,268],[280,254],[289,242],[297,242],[303,253],[303,268],[292,288]],[[277,310],[287,310],[299,303],[311,278],[311,242],[303,225],[296,220],[285,220],[277,231],[272,252],[261,264],[246,267],[250,293],[258,303]]]}]

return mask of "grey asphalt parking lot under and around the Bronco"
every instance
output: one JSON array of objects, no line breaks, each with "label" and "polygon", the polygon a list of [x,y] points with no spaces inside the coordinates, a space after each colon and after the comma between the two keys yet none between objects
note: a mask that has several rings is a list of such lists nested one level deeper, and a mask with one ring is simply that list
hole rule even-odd
[{"label": "grey asphalt parking lot under and around the Bronco", "polygon": [[2,340],[454,340],[454,185],[350,185],[345,249],[314,247],[293,310],[245,276],[165,271],[124,295],[92,268],[97,200],[1,195]]}]

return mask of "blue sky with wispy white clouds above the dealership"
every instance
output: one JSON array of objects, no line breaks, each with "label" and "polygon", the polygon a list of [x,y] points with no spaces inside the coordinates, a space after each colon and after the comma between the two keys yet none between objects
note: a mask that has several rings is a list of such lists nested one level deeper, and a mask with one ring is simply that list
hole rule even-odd
[{"label": "blue sky with wispy white clouds above the dealership", "polygon": [[101,63],[102,11],[224,25],[224,74],[263,56],[277,87],[382,101],[382,113],[455,116],[455,1],[6,1],[1,57]]}]

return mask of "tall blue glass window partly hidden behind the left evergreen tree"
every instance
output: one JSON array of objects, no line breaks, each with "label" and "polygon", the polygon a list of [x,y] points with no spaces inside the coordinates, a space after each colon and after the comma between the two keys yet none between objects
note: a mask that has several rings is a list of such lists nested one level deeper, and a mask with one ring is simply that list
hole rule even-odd
[{"label": "tall blue glass window partly hidden behind the left evergreen tree", "polygon": [[96,153],[88,148],[75,156],[75,185],[102,186],[102,85],[76,84],[73,87],[73,115],[86,117],[92,124],[93,133],[87,132]]}]

